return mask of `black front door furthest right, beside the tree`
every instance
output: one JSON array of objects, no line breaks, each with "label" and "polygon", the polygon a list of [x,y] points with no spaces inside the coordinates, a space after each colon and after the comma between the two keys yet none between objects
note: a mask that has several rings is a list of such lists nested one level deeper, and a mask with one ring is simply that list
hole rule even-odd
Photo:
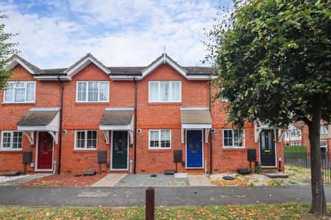
[{"label": "black front door furthest right, beside the tree", "polygon": [[261,131],[260,155],[262,166],[276,166],[274,130]]}]

